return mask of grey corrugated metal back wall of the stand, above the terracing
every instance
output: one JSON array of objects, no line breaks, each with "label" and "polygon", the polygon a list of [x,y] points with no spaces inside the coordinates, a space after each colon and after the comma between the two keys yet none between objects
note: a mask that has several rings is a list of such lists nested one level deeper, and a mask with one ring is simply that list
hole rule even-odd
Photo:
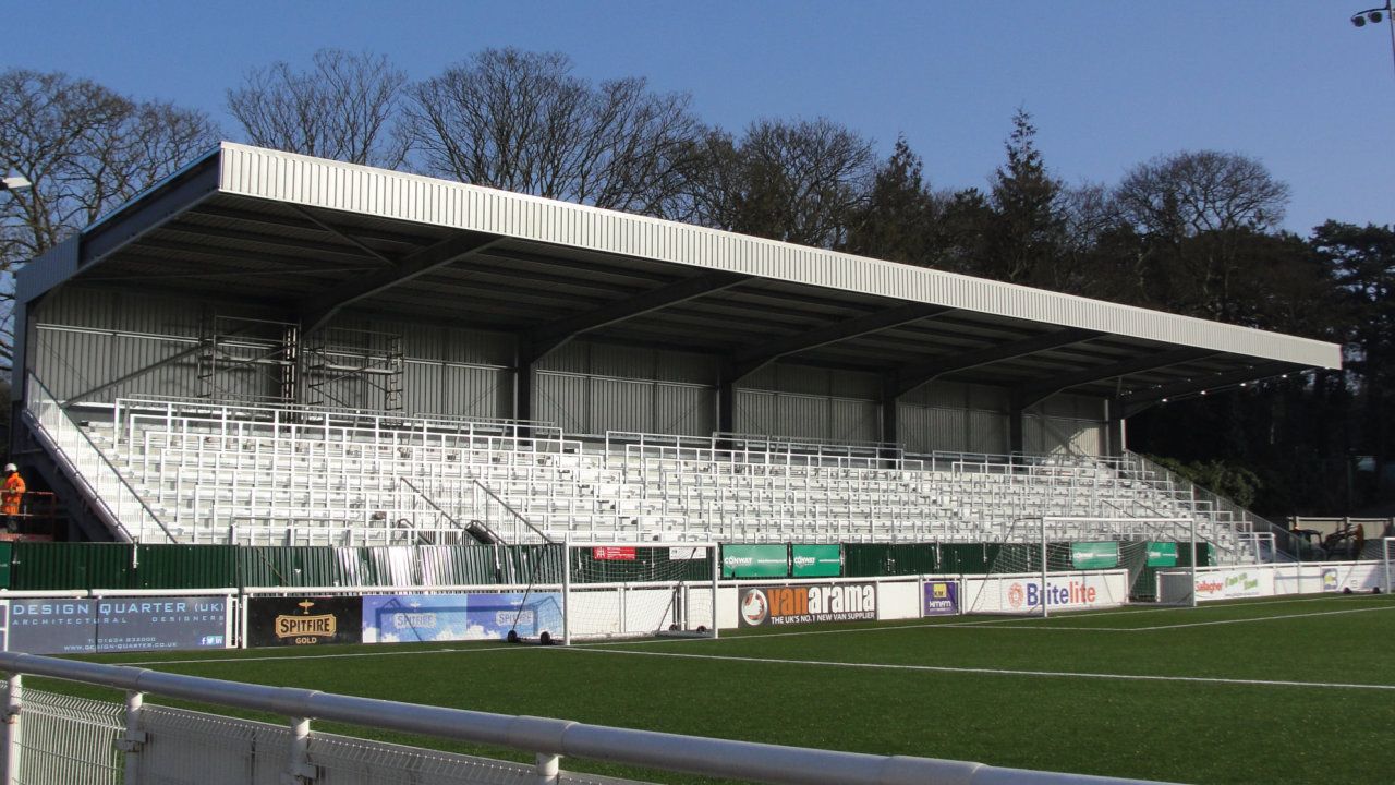
[{"label": "grey corrugated metal back wall of the stand, above the terracing", "polygon": [[[56,395],[70,397],[193,348],[199,320],[208,314],[275,316],[68,288],[42,303],[29,359]],[[371,320],[340,320],[335,327],[402,335],[407,415],[512,415],[511,335]],[[195,397],[205,392],[198,374],[198,356],[190,355],[105,390],[89,402],[126,395]],[[638,430],[706,436],[716,429],[714,380],[711,356],[573,341],[540,363],[533,416],[572,434]],[[223,372],[218,384],[219,397],[232,401],[266,399],[276,392],[275,379],[255,367]],[[381,392],[363,380],[339,381],[326,392],[326,402],[336,405],[381,404]],[[875,374],[770,365],[738,386],[734,427],[792,439],[879,441],[877,395]],[[1103,451],[1103,406],[1098,399],[1057,395],[1043,406],[1045,415],[1028,416],[1028,451],[1067,450],[1067,444],[1076,453]],[[1003,390],[933,383],[905,395],[900,411],[901,439],[911,453],[1007,451]]]}]

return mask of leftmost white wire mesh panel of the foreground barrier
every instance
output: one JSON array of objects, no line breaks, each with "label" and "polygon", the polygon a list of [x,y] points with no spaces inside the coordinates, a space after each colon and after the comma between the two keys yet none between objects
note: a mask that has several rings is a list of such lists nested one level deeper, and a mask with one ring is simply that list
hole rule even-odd
[{"label": "leftmost white wire mesh panel of the foreground barrier", "polygon": [[117,785],[123,781],[124,707],[39,690],[21,693],[20,782],[22,785]]}]

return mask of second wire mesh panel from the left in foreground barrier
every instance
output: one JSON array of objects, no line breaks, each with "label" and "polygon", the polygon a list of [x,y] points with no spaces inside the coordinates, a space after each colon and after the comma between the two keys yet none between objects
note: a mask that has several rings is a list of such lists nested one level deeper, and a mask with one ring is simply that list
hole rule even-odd
[{"label": "second wire mesh panel from the left in foreground barrier", "polygon": [[279,782],[290,756],[290,731],[266,722],[145,705],[141,729],[142,785]]}]

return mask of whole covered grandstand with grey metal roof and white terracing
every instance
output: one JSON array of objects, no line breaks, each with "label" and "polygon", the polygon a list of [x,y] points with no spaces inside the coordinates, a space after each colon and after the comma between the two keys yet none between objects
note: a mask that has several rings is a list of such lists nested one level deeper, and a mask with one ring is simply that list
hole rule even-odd
[{"label": "whole covered grandstand with grey metal roof and white terracing", "polygon": [[[68,539],[1182,541],[1126,450],[1335,345],[223,144],[29,264],[14,454]],[[1134,525],[1129,518],[1137,518]],[[1094,524],[1098,525],[1098,524]],[[1073,528],[1074,527],[1074,528]]]}]

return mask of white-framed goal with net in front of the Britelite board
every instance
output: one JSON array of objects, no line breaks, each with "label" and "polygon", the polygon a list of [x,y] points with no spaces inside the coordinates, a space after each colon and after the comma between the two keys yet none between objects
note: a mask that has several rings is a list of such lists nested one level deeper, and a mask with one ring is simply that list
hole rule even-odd
[{"label": "white-framed goal with net in front of the Britelite board", "polygon": [[1014,520],[985,545],[983,574],[965,575],[965,612],[1048,616],[1154,602],[1155,568],[1177,564],[1190,529],[1187,518]]}]

